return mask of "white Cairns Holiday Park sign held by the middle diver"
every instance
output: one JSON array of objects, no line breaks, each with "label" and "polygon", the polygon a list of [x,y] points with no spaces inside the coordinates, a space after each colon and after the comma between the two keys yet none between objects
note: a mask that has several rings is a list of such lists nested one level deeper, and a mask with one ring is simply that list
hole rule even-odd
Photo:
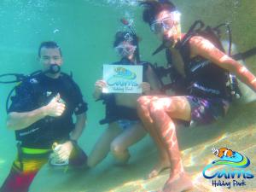
[{"label": "white Cairns Holiday Park sign held by the middle diver", "polygon": [[143,66],[103,65],[103,93],[142,93]]}]

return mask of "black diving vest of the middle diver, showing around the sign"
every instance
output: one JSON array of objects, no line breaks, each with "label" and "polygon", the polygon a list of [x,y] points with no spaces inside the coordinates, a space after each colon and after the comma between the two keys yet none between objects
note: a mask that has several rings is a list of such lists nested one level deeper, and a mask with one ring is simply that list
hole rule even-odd
[{"label": "black diving vest of the middle diver, showing around the sign", "polygon": [[[121,61],[113,62],[113,65],[133,65],[133,63],[130,60],[123,58]],[[150,64],[141,61],[140,65],[143,65],[143,81],[147,82],[145,72]],[[103,93],[100,100],[103,100],[103,103],[106,104],[106,117],[100,121],[101,125],[109,124],[119,119],[139,120],[137,110],[135,108],[117,105],[113,93]]]}]

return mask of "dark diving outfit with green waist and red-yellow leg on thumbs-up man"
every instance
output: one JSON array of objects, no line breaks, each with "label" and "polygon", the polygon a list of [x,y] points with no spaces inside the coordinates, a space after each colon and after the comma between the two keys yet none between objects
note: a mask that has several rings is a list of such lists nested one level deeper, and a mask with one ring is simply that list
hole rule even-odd
[{"label": "dark diving outfit with green waist and red-yellow leg on thumbs-up man", "polygon": [[[30,112],[48,104],[54,96],[60,94],[66,109],[60,117],[45,117],[25,129],[15,131],[18,154],[5,179],[0,192],[27,192],[33,178],[49,160],[52,144],[65,143],[73,131],[73,113],[86,112],[79,86],[67,74],[61,73],[58,79],[50,79],[43,73],[26,79],[16,88],[12,98],[10,112]],[[87,155],[73,142],[73,150],[68,159],[68,166],[86,165]]]}]

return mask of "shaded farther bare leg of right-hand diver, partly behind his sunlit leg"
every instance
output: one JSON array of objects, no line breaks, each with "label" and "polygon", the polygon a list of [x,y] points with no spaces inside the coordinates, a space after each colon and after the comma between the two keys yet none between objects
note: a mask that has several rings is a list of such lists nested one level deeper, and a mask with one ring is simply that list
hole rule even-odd
[{"label": "shaded farther bare leg of right-hand diver, partly behind his sunlit leg", "polygon": [[[138,100],[138,103],[140,105],[139,109],[141,110],[141,113],[145,114],[149,118],[149,116],[150,116],[149,104],[152,100],[157,99],[157,98],[159,98],[159,97],[157,97],[157,96],[141,96]],[[143,122],[143,124],[147,125],[147,122]],[[166,168],[170,168],[171,165],[170,165],[170,162],[168,159],[168,154],[167,154],[166,148],[163,146],[163,142],[160,140],[160,136],[159,136],[158,132],[154,129],[154,127],[152,125],[144,126],[144,128],[149,132],[150,136],[154,139],[154,143],[156,144],[158,151],[159,151],[159,157],[158,157],[159,160],[156,163],[156,165],[154,166],[153,170],[148,174],[148,178],[151,178],[151,177],[158,176],[161,171],[165,170]]]}]

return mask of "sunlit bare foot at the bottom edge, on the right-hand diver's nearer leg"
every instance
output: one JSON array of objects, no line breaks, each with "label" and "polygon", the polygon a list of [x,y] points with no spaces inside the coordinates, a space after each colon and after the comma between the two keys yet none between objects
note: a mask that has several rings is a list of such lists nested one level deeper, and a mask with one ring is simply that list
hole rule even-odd
[{"label": "sunlit bare foot at the bottom edge, on the right-hand diver's nearer leg", "polygon": [[171,176],[162,192],[182,192],[193,188],[193,183],[185,172]]}]

